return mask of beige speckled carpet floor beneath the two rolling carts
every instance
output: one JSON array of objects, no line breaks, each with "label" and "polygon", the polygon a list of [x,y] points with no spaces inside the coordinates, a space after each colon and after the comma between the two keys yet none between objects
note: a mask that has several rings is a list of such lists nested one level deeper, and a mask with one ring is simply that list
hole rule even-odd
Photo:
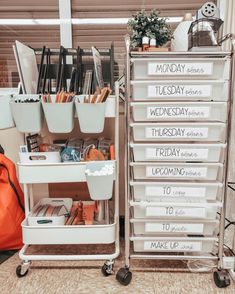
[{"label": "beige speckled carpet floor beneath the two rolling carts", "polygon": [[[53,247],[57,254],[78,252],[76,246]],[[99,249],[99,248],[97,248]],[[104,249],[104,248],[103,248]],[[50,253],[46,246],[32,246],[28,254]],[[101,249],[102,251],[102,249]],[[133,279],[121,286],[115,275],[104,277],[100,261],[35,261],[28,274],[15,274],[20,259],[16,253],[0,265],[1,294],[233,294],[235,284],[218,289],[212,273],[190,273],[185,264],[166,261],[133,261]],[[123,266],[123,254],[115,262],[115,270]]]}]

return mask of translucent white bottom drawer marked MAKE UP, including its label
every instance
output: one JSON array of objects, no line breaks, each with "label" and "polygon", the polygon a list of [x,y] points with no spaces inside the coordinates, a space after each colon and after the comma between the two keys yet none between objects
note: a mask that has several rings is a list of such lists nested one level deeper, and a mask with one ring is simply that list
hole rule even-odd
[{"label": "translucent white bottom drawer marked MAKE UP, including its label", "polygon": [[211,252],[218,238],[131,237],[135,252]]}]

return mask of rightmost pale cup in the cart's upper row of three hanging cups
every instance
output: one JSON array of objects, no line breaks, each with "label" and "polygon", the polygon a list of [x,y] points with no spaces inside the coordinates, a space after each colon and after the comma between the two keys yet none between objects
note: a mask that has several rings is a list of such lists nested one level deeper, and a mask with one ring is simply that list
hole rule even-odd
[{"label": "rightmost pale cup in the cart's upper row of three hanging cups", "polygon": [[[82,96],[82,97],[81,97]],[[77,117],[82,133],[101,133],[104,130],[105,106],[103,103],[83,103],[84,95],[75,100]],[[80,103],[78,99],[80,98]]]}]

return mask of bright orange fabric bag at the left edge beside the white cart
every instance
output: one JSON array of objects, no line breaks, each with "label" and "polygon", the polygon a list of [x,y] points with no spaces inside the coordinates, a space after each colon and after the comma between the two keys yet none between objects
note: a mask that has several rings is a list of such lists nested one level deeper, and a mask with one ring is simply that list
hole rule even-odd
[{"label": "bright orange fabric bag at the left edge beside the white cart", "polygon": [[22,247],[24,197],[14,163],[0,154],[0,250]]}]

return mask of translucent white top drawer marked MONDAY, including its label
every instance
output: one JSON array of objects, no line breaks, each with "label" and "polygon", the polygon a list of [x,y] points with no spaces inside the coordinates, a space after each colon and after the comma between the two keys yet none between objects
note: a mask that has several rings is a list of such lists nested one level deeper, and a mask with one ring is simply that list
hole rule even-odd
[{"label": "translucent white top drawer marked MONDAY, including its label", "polygon": [[229,79],[230,57],[132,58],[134,79]]}]

